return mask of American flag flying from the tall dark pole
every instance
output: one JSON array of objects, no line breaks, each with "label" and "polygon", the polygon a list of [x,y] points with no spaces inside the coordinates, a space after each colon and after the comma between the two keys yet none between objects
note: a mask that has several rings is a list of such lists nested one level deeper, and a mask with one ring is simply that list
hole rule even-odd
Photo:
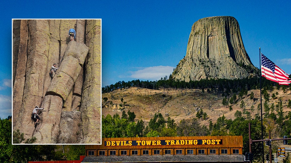
[{"label": "American flag flying from the tall dark pole", "polygon": [[291,83],[289,75],[263,54],[261,71],[262,76],[268,80],[277,82],[282,85],[289,85]]}]

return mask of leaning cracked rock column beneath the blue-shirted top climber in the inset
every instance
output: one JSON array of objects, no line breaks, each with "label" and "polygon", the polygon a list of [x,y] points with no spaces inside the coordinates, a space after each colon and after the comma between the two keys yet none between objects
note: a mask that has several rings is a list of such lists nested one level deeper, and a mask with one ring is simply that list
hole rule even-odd
[{"label": "leaning cracked rock column beneath the blue-shirted top climber in the inset", "polygon": [[36,143],[56,143],[59,136],[59,122],[63,101],[66,101],[73,89],[85,58],[88,47],[85,44],[70,41],[64,53],[63,61],[48,87],[43,99],[42,123],[38,125],[34,136]]}]

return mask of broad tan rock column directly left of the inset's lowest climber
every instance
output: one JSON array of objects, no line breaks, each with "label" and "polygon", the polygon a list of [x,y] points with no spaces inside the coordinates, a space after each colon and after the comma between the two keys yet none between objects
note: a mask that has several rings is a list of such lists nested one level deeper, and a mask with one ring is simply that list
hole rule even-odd
[{"label": "broad tan rock column directly left of the inset's lowest climber", "polygon": [[[20,129],[24,138],[33,134],[31,114],[43,97],[44,75],[47,71],[49,49],[49,26],[47,20],[28,20],[28,46],[23,101],[18,113],[14,130]],[[14,89],[14,88],[13,88]],[[13,115],[14,116],[14,115]]]}]

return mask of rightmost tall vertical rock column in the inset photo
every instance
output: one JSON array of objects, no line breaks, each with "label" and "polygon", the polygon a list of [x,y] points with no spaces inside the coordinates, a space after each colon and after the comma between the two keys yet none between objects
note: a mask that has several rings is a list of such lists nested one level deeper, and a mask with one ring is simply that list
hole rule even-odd
[{"label": "rightmost tall vertical rock column in the inset photo", "polygon": [[86,77],[83,84],[81,118],[83,141],[101,142],[101,20],[87,20]]}]

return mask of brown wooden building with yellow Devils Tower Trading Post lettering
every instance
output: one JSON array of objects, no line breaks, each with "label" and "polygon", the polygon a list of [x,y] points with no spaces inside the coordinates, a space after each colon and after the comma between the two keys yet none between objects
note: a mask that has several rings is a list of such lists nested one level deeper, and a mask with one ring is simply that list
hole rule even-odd
[{"label": "brown wooden building with yellow Devils Tower Trading Post lettering", "polygon": [[82,162],[244,162],[242,136],[103,138]]}]

